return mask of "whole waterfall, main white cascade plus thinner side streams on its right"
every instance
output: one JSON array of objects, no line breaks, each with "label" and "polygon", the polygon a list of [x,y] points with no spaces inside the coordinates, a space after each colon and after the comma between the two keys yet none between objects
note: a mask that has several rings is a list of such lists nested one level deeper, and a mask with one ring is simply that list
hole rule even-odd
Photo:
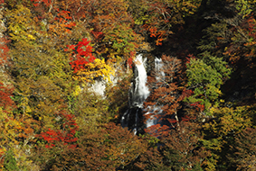
[{"label": "whole waterfall, main white cascade plus thinner side streams on its right", "polygon": [[[129,90],[129,108],[121,117],[122,127],[128,127],[128,130],[133,130],[135,134],[142,133],[143,128],[148,128],[157,123],[156,116],[152,115],[147,119],[146,123],[143,122],[144,112],[160,114],[162,112],[161,106],[147,106],[147,109],[143,108],[143,103],[150,94],[147,87],[147,71],[146,71],[147,58],[143,58],[142,54],[138,54],[134,60],[134,80],[131,83]],[[161,58],[155,58],[155,71],[156,81],[165,79],[165,73],[161,71],[163,62]]]}]

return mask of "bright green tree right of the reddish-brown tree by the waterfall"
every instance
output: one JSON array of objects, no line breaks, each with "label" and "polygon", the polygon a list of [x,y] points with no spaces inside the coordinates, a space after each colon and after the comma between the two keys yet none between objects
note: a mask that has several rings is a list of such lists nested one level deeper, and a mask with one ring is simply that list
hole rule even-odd
[{"label": "bright green tree right of the reddish-brown tree by the waterfall", "polygon": [[218,103],[222,94],[221,85],[231,74],[231,69],[222,58],[216,58],[205,52],[202,59],[191,58],[186,64],[187,85],[193,94],[185,99],[188,103],[201,103],[203,111],[210,114],[209,109]]}]

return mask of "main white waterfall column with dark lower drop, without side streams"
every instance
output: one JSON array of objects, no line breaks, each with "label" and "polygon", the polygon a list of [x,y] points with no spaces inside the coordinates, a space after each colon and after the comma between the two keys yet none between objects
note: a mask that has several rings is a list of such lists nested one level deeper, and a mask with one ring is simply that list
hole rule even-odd
[{"label": "main white waterfall column with dark lower drop, without side streams", "polygon": [[149,95],[147,87],[147,58],[143,58],[142,54],[138,54],[134,60],[134,81],[131,83],[129,91],[129,108],[121,118],[122,127],[128,127],[135,134],[142,132],[143,127],[143,103]]}]

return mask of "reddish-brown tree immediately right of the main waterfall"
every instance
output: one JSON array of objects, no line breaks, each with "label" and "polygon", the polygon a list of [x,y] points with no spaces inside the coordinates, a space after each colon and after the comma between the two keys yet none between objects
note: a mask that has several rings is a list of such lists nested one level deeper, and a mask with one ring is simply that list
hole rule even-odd
[{"label": "reddish-brown tree immediately right of the main waterfall", "polygon": [[[181,109],[181,102],[185,96],[182,94],[185,89],[184,76],[182,75],[182,62],[178,58],[162,56],[163,67],[159,71],[154,71],[152,76],[148,76],[148,86],[150,87],[146,106],[158,106],[163,112],[157,114],[159,110],[150,112],[145,116],[146,120],[156,117],[159,121],[168,121],[174,127],[178,124],[180,116],[178,110]],[[151,118],[152,119],[152,118]],[[149,128],[150,129],[150,128]]]}]

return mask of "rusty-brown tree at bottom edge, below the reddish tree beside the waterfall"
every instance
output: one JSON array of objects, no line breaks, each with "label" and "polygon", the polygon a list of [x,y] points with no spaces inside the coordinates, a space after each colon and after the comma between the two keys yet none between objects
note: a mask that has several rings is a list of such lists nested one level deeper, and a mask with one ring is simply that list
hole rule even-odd
[{"label": "rusty-brown tree at bottom edge, below the reddish tree beside the waterfall", "polygon": [[181,121],[180,129],[171,129],[163,137],[161,150],[164,154],[165,169],[172,170],[203,170],[208,166],[209,150],[201,144],[203,139],[197,123]]}]

